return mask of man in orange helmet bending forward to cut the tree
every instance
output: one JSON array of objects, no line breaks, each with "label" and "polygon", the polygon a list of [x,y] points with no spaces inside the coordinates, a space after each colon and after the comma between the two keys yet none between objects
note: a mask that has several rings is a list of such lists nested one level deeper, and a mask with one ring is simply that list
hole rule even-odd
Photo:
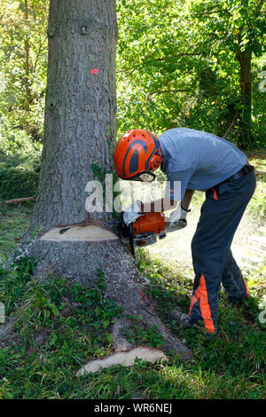
[{"label": "man in orange helmet bending forward to cut the tree", "polygon": [[[156,138],[146,130],[129,130],[113,155],[119,177],[153,180],[161,166],[170,187],[149,211],[177,209],[169,222],[186,219],[195,190],[205,191],[200,221],[192,239],[195,272],[190,312],[172,311],[169,319],[185,328],[202,323],[207,333],[217,331],[218,294],[221,283],[232,303],[249,296],[246,281],[231,254],[231,241],[255,189],[254,168],[246,155],[223,138],[199,130],[171,129]],[[174,195],[175,181],[181,182],[181,202]],[[124,214],[125,223],[145,213],[145,204],[135,201]]]}]

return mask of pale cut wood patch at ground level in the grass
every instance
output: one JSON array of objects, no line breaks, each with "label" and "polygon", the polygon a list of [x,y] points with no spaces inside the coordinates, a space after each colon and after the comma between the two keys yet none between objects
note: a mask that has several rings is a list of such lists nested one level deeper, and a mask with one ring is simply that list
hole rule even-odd
[{"label": "pale cut wood patch at ground level in the grass", "polygon": [[143,359],[148,362],[155,362],[158,359],[167,359],[167,356],[155,348],[149,348],[148,346],[139,346],[138,348],[113,353],[113,355],[107,358],[91,360],[87,365],[77,372],[77,376],[84,374],[100,372],[102,369],[114,365],[132,366],[135,363],[135,359]]}]

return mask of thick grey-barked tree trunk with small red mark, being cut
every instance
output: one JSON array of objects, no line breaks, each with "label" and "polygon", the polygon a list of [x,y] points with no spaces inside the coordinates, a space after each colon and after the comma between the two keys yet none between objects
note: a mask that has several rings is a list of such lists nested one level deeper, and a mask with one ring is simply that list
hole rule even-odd
[{"label": "thick grey-barked tree trunk with small red mark, being cut", "polygon": [[[121,336],[127,315],[142,315],[157,326],[165,347],[184,358],[189,350],[158,318],[144,295],[146,279],[121,240],[47,241],[38,238],[54,226],[105,225],[110,213],[85,209],[85,185],[93,163],[110,171],[115,143],[115,0],[51,0],[49,66],[43,157],[35,209],[17,254],[38,257],[36,277],[51,271],[88,287],[106,279],[106,296],[121,305],[123,317],[113,326],[113,347],[129,348]],[[34,237],[33,237],[34,234]],[[64,235],[62,235],[64,236]],[[18,256],[17,255],[17,256]]]}]

